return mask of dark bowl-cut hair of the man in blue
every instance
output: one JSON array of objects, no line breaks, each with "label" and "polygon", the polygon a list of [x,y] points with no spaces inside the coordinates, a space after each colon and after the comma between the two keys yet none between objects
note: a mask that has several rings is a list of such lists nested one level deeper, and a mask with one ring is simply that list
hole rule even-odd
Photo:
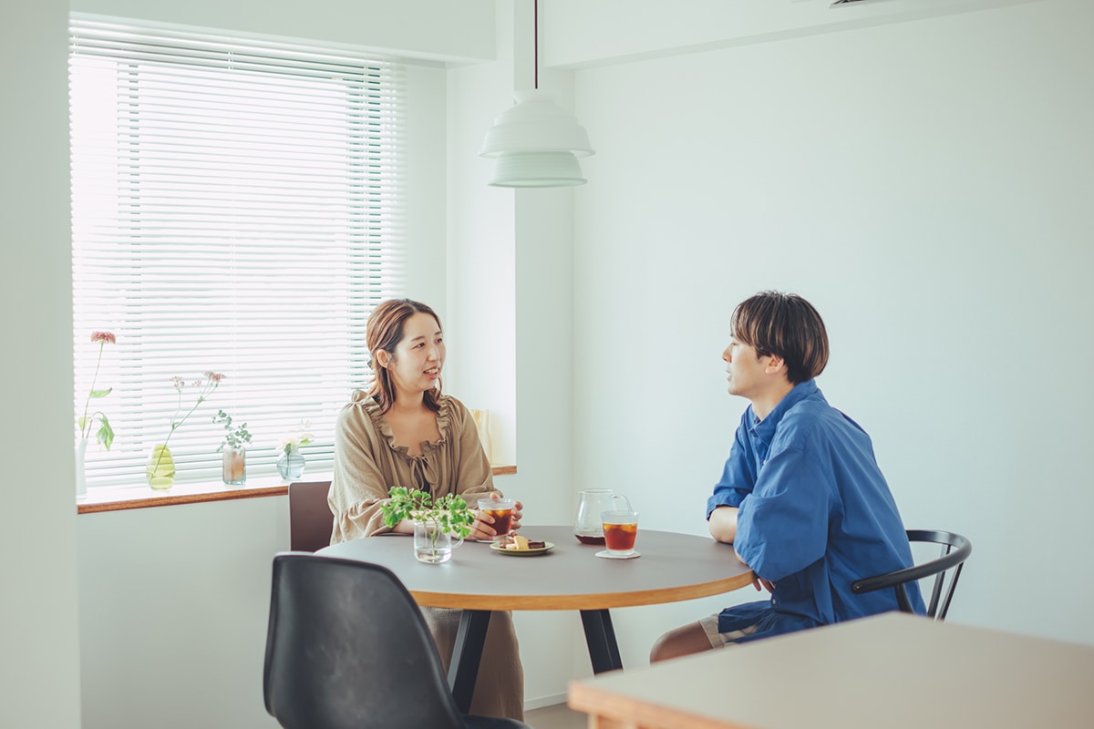
[{"label": "dark bowl-cut hair of the man in blue", "polygon": [[813,305],[798,294],[763,291],[733,309],[733,338],[787,363],[787,379],[813,379],[828,364],[828,332]]}]

